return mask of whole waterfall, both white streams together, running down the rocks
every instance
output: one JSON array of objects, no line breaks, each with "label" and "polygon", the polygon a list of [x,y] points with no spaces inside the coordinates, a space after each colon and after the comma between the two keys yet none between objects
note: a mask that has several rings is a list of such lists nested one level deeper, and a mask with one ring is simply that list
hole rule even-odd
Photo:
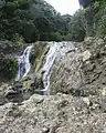
[{"label": "whole waterfall, both white streams together, running down the rocks", "polygon": [[[44,89],[36,90],[41,91],[44,94],[49,94],[49,86],[50,86],[50,78],[53,70],[53,65],[55,64],[55,60],[60,61],[63,57],[65,57],[66,52],[73,50],[75,47],[72,42],[49,42],[50,50],[44,58],[44,64],[42,66],[42,81]],[[26,47],[23,54],[18,57],[18,73],[15,81],[26,76],[31,69],[30,64],[30,53],[33,45]]]}]

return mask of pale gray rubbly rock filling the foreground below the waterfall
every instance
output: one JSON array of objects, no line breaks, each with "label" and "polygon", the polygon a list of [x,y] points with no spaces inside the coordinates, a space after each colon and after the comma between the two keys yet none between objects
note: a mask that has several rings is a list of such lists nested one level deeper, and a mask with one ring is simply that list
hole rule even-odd
[{"label": "pale gray rubbly rock filling the foreground below the waterfall", "polygon": [[61,93],[34,94],[22,105],[7,103],[0,106],[0,133],[105,133],[106,113],[98,99],[86,98],[86,104],[83,98]]}]

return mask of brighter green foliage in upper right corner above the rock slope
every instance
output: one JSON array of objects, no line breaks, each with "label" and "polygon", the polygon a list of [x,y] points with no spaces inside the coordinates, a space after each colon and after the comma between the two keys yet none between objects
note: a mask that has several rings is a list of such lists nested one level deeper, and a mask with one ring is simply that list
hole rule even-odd
[{"label": "brighter green foliage in upper right corner above the rock slope", "polygon": [[106,1],[98,0],[85,9],[86,33],[104,38],[106,34]]}]

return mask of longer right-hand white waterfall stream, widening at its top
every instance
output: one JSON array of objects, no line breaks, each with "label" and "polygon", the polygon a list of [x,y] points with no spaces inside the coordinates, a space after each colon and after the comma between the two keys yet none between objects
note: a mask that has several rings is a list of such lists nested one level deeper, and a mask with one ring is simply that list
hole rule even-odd
[{"label": "longer right-hand white waterfall stream, widening at its top", "polygon": [[50,78],[54,61],[60,61],[60,59],[62,59],[62,57],[64,57],[67,51],[71,51],[75,47],[72,42],[50,42],[50,50],[45,57],[45,63],[42,68],[44,84],[44,89],[41,90],[42,92],[49,94]]}]

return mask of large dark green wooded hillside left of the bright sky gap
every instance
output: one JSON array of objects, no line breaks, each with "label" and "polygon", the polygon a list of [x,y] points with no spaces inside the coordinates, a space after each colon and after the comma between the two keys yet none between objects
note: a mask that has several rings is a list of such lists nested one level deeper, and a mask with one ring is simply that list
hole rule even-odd
[{"label": "large dark green wooded hillside left of the bright sky gap", "polygon": [[67,20],[43,0],[6,0],[0,7],[0,39],[13,40],[20,34],[25,42],[61,41],[66,35]]}]

